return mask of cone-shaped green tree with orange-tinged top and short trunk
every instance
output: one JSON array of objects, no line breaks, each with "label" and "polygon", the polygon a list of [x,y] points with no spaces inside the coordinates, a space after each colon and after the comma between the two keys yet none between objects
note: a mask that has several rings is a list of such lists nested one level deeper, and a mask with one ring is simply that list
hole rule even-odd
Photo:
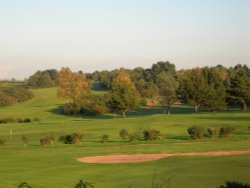
[{"label": "cone-shaped green tree with orange-tinged top and short trunk", "polygon": [[123,118],[126,112],[137,106],[139,94],[127,73],[119,72],[113,79],[110,91],[110,107],[120,111]]}]

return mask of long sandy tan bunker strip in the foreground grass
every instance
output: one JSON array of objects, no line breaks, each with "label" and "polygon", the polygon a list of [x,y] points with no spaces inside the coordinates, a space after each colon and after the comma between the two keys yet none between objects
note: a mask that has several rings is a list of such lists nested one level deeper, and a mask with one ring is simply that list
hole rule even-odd
[{"label": "long sandy tan bunker strip in the foreground grass", "polygon": [[209,151],[209,152],[192,152],[192,153],[162,153],[162,154],[133,154],[133,155],[107,155],[83,157],[77,160],[85,163],[138,163],[145,161],[154,161],[166,157],[174,156],[226,156],[226,155],[243,155],[250,154],[250,150],[233,150],[233,151]]}]

